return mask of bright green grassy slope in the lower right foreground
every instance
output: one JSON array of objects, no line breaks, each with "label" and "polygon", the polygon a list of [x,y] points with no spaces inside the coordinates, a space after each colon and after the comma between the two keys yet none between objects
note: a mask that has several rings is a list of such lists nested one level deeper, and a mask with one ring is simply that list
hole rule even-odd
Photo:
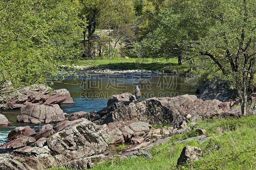
[{"label": "bright green grassy slope in the lower right foreground", "polygon": [[[196,146],[203,150],[202,158],[182,169],[256,169],[256,117],[211,119],[197,122],[196,128],[205,128],[210,138],[204,143],[191,140],[186,143],[175,143],[176,140],[197,136],[196,130],[174,135],[172,139],[150,150],[153,160],[143,157],[116,159],[95,166],[94,170],[113,169],[177,169],[176,163],[184,146]],[[177,146],[168,152],[172,146]],[[55,168],[54,170],[60,170]],[[61,169],[63,170],[63,169]]]}]

